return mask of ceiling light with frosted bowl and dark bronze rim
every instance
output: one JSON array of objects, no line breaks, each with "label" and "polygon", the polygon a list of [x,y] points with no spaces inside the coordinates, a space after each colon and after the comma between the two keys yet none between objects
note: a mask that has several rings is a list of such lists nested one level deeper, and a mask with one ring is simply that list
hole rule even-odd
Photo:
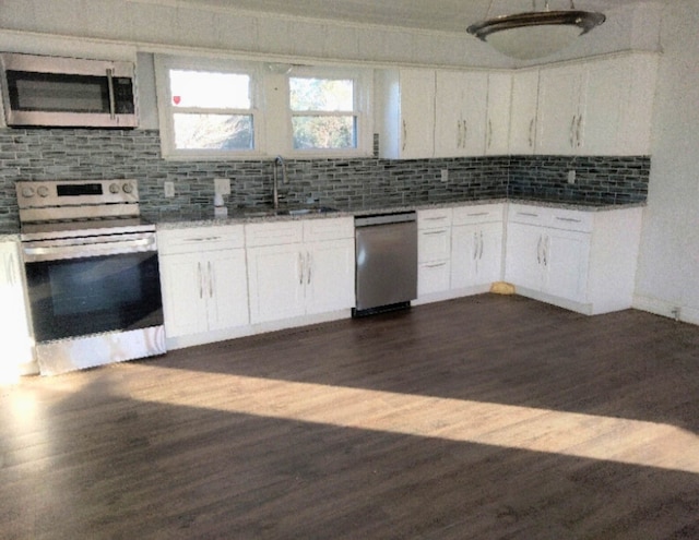
[{"label": "ceiling light with frosted bowl and dark bronze rim", "polygon": [[606,20],[602,13],[576,10],[573,0],[570,10],[559,11],[550,11],[548,0],[544,11],[536,11],[536,0],[532,3],[534,11],[488,19],[467,32],[510,58],[532,60],[565,49]]}]

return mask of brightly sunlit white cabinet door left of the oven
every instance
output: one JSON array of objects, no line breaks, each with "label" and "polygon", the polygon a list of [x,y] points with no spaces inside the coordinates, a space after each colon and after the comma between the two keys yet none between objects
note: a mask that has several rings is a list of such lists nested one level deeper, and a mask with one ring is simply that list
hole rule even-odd
[{"label": "brightly sunlit white cabinet door left of the oven", "polygon": [[33,361],[22,275],[17,245],[0,243],[0,382],[3,375],[16,375],[21,364]]}]

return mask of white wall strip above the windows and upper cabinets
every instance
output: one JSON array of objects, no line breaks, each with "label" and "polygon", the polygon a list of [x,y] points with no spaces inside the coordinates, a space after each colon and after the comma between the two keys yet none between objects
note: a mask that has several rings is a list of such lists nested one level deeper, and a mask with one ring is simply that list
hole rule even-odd
[{"label": "white wall strip above the windows and upper cabinets", "polygon": [[[511,68],[516,62],[463,33],[339,24],[251,15],[233,9],[193,10],[187,1],[2,0],[0,28],[130,44],[139,51],[205,49],[251,56],[372,63]],[[619,50],[654,50],[660,10],[653,4],[609,10],[607,22],[552,60]],[[475,21],[474,21],[475,22]],[[651,32],[642,32],[644,25]],[[4,41],[4,43],[3,43]],[[4,50],[13,47],[0,35]],[[25,40],[23,48],[39,47]],[[42,52],[40,50],[25,50]],[[60,53],[60,51],[56,51]]]}]

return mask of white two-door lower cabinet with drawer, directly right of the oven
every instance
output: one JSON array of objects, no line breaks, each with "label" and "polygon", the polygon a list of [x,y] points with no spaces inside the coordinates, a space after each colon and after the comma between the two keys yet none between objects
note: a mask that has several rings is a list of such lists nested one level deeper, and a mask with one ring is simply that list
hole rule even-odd
[{"label": "white two-door lower cabinet with drawer, directly right of the oven", "polygon": [[168,338],[249,323],[242,226],[164,230],[157,238]]}]

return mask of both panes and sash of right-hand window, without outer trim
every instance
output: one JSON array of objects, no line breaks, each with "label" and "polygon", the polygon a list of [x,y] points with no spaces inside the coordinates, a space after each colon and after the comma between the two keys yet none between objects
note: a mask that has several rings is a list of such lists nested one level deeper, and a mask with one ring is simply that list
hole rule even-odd
[{"label": "both panes and sash of right-hand window, without outer trim", "polygon": [[351,79],[289,77],[294,148],[356,148],[354,92]]}]

